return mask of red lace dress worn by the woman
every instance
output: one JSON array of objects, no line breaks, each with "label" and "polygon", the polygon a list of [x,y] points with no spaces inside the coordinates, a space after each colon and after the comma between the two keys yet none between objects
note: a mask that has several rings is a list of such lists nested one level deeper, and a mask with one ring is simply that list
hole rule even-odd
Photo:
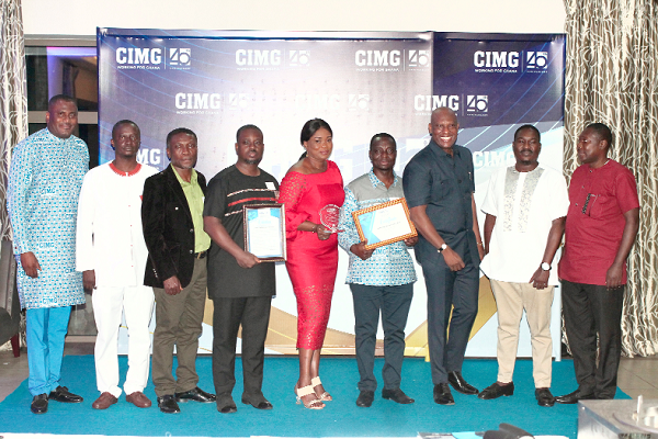
[{"label": "red lace dress worn by the woman", "polygon": [[313,232],[297,230],[305,221],[320,223],[320,209],[341,206],[343,182],[338,166],[304,175],[288,172],[281,181],[279,202],[285,204],[287,268],[297,297],[297,349],[319,349],[325,341],[338,270],[338,236],[319,240]]}]

